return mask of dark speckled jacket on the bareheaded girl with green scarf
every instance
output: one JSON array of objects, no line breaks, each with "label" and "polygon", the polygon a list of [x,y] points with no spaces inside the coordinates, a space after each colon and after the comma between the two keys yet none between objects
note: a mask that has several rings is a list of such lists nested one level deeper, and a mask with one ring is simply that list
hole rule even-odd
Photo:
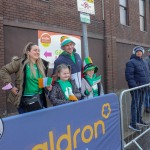
[{"label": "dark speckled jacket on the bareheaded girl with green scarf", "polygon": [[[72,85],[73,94],[77,97],[78,100],[80,100],[81,92],[79,91],[75,81],[70,80],[70,82]],[[51,103],[53,104],[53,106],[73,102],[73,101],[66,100],[65,95],[64,95],[58,82],[54,83],[52,91],[49,94],[49,99],[50,99]]]}]

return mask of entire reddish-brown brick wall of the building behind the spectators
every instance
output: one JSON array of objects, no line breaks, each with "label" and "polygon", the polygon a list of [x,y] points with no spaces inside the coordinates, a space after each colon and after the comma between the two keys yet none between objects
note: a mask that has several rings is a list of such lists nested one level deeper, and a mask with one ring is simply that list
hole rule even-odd
[{"label": "entire reddish-brown brick wall of the building behind the spectators", "polygon": [[[145,48],[150,47],[150,2],[149,0],[145,1],[146,32],[140,31],[138,0],[128,1],[129,26],[120,24],[119,0],[103,0],[104,20],[102,0],[94,1],[96,14],[91,15],[91,24],[88,25],[88,36],[93,34],[92,40],[89,40],[89,47],[91,53],[92,45],[97,39],[101,39],[103,42],[100,42],[100,47],[103,48],[104,65],[102,67],[103,72],[105,72],[104,84],[107,92],[115,91],[118,87],[124,87],[124,85],[120,86],[118,84],[120,79],[124,79],[122,73],[118,74],[121,67],[118,63],[124,67],[127,57],[121,59],[120,54],[126,54],[126,48],[132,48],[134,45],[142,45]],[[41,0],[0,0],[0,67],[4,64],[3,23],[4,26],[7,25],[8,27],[48,29],[48,31],[54,31],[51,30],[52,28],[60,28],[60,32],[63,33],[68,30],[68,34],[77,33],[82,35],[82,25],[76,2],[76,0],[50,0],[49,2]],[[126,48],[122,49],[122,46]],[[97,49],[95,48],[95,50]],[[128,49],[128,55],[130,51],[132,49]],[[92,56],[94,57],[93,53]],[[98,57],[97,55],[96,61],[98,61]],[[120,62],[118,62],[118,58]],[[5,93],[0,91],[0,96],[2,97],[0,99],[0,104],[2,104],[0,105],[0,111],[3,111],[6,107]]]}]

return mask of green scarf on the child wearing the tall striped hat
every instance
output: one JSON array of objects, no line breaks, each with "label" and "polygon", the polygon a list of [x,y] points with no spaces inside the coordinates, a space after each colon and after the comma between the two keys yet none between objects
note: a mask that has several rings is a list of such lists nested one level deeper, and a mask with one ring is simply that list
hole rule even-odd
[{"label": "green scarf on the child wearing the tall striped hat", "polygon": [[93,96],[98,96],[97,82],[101,81],[101,76],[96,76],[96,74],[94,74],[92,78],[88,75],[86,75],[85,78],[92,87]]}]

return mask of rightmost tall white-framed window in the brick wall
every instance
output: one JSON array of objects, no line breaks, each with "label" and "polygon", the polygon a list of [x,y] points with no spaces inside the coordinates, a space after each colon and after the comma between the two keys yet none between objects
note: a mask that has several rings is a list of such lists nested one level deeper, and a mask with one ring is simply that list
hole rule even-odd
[{"label": "rightmost tall white-framed window in the brick wall", "polygon": [[139,0],[140,30],[146,30],[145,0]]}]

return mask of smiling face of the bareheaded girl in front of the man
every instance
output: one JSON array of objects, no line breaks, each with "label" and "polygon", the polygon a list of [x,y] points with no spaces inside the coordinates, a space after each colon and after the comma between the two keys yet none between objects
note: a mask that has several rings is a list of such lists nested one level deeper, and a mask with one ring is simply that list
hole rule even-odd
[{"label": "smiling face of the bareheaded girl in front of the man", "polygon": [[70,78],[69,68],[62,69],[58,74],[58,77],[63,81],[67,81]]}]

